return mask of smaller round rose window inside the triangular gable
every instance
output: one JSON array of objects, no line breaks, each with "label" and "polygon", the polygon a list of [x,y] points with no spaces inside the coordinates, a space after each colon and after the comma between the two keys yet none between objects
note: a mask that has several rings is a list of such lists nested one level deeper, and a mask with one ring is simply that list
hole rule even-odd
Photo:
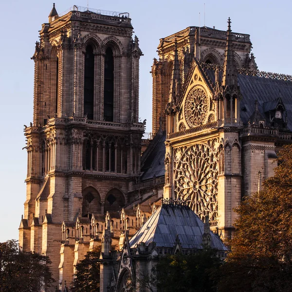
[{"label": "smaller round rose window inside the triangular gable", "polygon": [[187,97],[185,105],[186,120],[190,127],[201,125],[208,113],[208,98],[205,91],[195,88]]}]

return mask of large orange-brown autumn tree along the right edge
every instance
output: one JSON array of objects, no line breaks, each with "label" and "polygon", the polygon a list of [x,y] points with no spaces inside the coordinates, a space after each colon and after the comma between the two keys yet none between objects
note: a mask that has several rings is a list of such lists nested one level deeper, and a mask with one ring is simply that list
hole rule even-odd
[{"label": "large orange-brown autumn tree along the right edge", "polygon": [[292,146],[279,152],[278,163],[262,190],[235,209],[236,233],[217,274],[219,291],[292,289]]}]

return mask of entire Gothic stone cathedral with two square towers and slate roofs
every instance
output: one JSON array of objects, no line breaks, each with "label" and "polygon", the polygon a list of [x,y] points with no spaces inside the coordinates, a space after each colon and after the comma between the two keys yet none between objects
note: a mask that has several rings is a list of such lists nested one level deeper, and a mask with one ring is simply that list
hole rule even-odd
[{"label": "entire Gothic stone cathedral with two square towers and slate roofs", "polygon": [[227,31],[191,26],[161,38],[145,139],[143,54],[128,13],[58,15],[54,4],[39,34],[23,250],[50,256],[60,291],[97,246],[102,292],[148,291],[139,279],[167,253],[207,245],[224,258],[233,208],[291,143],[292,76],[258,71],[250,36],[230,19]]}]

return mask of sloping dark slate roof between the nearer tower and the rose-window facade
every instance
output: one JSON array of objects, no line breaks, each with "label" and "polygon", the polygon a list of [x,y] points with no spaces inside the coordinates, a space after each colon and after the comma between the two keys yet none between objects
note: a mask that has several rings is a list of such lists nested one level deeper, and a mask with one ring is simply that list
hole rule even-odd
[{"label": "sloping dark slate roof between the nearer tower and the rose-window facade", "polygon": [[158,131],[142,155],[141,181],[153,179],[153,177],[164,176],[165,166],[165,132]]}]

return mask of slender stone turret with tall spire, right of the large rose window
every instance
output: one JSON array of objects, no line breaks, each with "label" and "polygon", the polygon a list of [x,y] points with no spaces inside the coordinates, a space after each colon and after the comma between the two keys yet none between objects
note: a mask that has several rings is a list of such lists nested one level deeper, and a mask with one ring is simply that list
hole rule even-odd
[{"label": "slender stone turret with tall spire, right of the large rose window", "polygon": [[215,72],[215,100],[219,127],[218,227],[224,237],[231,237],[236,214],[233,208],[241,201],[240,88],[234,57],[231,21],[228,18],[227,41],[220,84]]}]

